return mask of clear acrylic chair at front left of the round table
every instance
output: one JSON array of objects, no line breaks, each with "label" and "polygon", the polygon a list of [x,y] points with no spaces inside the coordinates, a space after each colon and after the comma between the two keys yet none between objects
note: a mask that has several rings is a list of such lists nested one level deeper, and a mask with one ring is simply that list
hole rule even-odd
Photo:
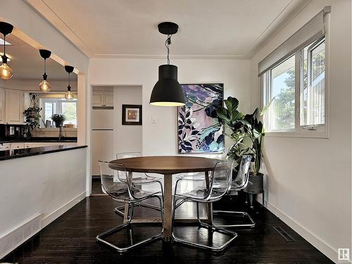
[{"label": "clear acrylic chair at front left of the round table", "polygon": [[[148,237],[139,241],[135,244],[130,242],[130,246],[119,247],[111,244],[111,242],[106,241],[104,238],[110,236],[111,234],[118,232],[119,230],[129,229],[131,227],[131,222],[133,218],[134,206],[137,203],[141,203],[146,199],[157,198],[160,203],[160,208],[163,208],[163,200],[161,199],[161,192],[149,192],[138,189],[133,182],[132,177],[128,177],[125,166],[122,163],[108,163],[99,161],[99,167],[101,171],[101,184],[106,193],[111,196],[112,199],[120,203],[127,203],[129,206],[127,222],[125,224],[113,227],[110,230],[102,232],[96,236],[96,240],[111,246],[113,249],[116,249],[119,252],[124,252],[129,249],[134,248],[135,246],[140,246],[148,242],[160,239],[163,235],[163,229],[160,233],[154,235],[153,237]],[[126,182],[121,182],[116,177],[118,174],[124,174]],[[161,220],[163,221],[163,210],[161,210]],[[130,241],[132,241],[132,232],[130,230]]]}]

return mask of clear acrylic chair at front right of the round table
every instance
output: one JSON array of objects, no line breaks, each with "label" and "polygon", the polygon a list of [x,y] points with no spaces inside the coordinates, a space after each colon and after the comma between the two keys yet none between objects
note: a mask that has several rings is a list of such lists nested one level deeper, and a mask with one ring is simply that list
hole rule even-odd
[{"label": "clear acrylic chair at front right of the round table", "polygon": [[[203,181],[204,179],[195,179],[195,178],[181,178],[177,180],[175,187],[175,199],[174,206],[172,210],[172,237],[176,242],[180,242],[182,244],[187,244],[189,246],[196,246],[201,249],[210,249],[211,251],[222,251],[226,248],[236,237],[237,233],[232,232],[230,230],[225,230],[222,227],[217,227],[213,224],[212,215],[210,215],[210,223],[202,222],[199,216],[199,203],[210,203],[210,208],[212,203],[215,201],[219,201],[222,196],[226,194],[226,192],[230,189],[231,184],[231,172],[232,172],[232,164],[228,162],[219,162],[215,165],[213,172],[211,172],[209,179],[209,187],[197,187],[194,190],[188,191],[186,193],[177,194],[177,187],[180,186],[180,182],[182,181]],[[210,230],[210,232],[218,232],[221,234],[226,234],[230,236],[224,244],[221,246],[208,246],[206,244],[201,244],[197,241],[191,241],[188,239],[183,239],[181,237],[177,237],[174,232],[175,225],[175,210],[176,204],[178,201],[191,201],[196,203],[196,213],[199,227],[206,228]]]}]

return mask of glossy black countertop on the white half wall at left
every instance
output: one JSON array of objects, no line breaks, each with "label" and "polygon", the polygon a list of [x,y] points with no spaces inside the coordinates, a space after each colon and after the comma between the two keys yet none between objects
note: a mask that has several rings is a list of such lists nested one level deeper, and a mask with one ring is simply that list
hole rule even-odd
[{"label": "glossy black countertop on the white half wall at left", "polygon": [[87,146],[78,146],[72,144],[70,146],[41,146],[39,148],[28,148],[28,149],[14,149],[7,151],[0,151],[0,161],[11,160],[13,158],[24,158],[29,156],[42,155],[47,153],[54,153],[60,151],[70,151],[72,149],[82,149]]}]

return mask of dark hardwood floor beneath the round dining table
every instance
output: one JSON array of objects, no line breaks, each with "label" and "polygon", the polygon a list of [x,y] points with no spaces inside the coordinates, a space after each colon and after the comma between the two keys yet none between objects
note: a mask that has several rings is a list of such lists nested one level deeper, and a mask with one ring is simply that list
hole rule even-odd
[{"label": "dark hardwood floor beneath the round dining table", "polygon": [[[215,208],[240,209],[243,198],[223,199]],[[92,196],[78,203],[67,213],[44,228],[22,246],[8,254],[3,262],[9,263],[332,263],[320,251],[291,230],[281,220],[256,203],[249,213],[256,221],[253,229],[237,229],[239,237],[223,252],[211,253],[180,244],[156,241],[133,251],[120,254],[96,242],[96,234],[120,225],[122,218],[113,213],[118,203],[108,196]],[[193,212],[190,203],[180,207],[180,213]],[[189,210],[191,208],[191,210]],[[137,208],[138,215],[158,215],[155,210]],[[227,222],[230,218],[216,218]],[[233,219],[232,219],[233,220]],[[294,241],[287,241],[274,227],[282,229]],[[160,231],[157,224],[134,224],[133,240],[138,241]],[[211,233],[195,225],[177,225],[178,236],[197,237],[207,243]],[[215,243],[227,239],[214,235]],[[109,238],[115,244],[128,244],[128,232],[122,231]],[[1,263],[1,261],[0,261]]]}]

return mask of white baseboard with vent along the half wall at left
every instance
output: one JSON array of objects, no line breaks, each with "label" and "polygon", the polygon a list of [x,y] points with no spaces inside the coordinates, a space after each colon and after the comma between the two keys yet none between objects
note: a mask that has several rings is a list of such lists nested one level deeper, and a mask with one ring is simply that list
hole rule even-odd
[{"label": "white baseboard with vent along the half wall at left", "polygon": [[9,232],[4,235],[4,237],[0,237],[0,259],[4,258],[8,253],[16,249],[18,246],[23,244],[27,239],[33,237],[34,234],[37,234],[40,230],[42,230],[46,225],[49,225],[51,222],[56,220],[56,218],[60,217],[67,210],[75,206],[77,203],[86,198],[86,191],[82,192],[82,194],[76,196],[74,199],[65,203],[60,208],[54,210],[53,213],[47,215],[42,218],[42,214],[35,215],[30,220],[27,220],[15,228],[15,230]]}]

